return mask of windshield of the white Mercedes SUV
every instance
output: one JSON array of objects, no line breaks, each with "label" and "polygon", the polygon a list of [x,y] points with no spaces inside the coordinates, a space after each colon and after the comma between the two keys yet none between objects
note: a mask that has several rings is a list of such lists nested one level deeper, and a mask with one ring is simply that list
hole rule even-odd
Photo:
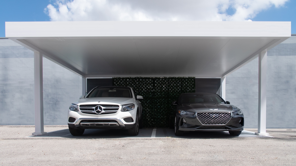
[{"label": "windshield of the white Mercedes SUV", "polygon": [[131,90],[124,87],[102,87],[94,89],[89,97],[129,97],[131,98]]}]

